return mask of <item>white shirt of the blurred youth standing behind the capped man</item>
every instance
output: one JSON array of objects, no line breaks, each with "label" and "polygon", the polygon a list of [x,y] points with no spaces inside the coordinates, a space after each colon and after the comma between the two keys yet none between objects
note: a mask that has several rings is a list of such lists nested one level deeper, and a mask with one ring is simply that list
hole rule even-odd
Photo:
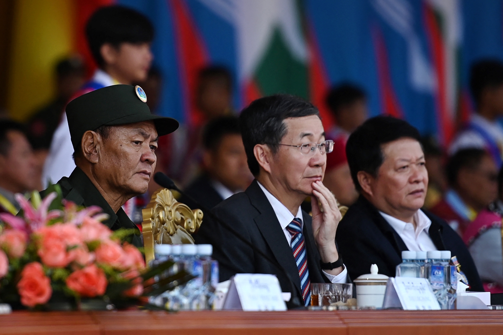
[{"label": "white shirt of the blurred youth standing behind the capped man", "polygon": [[[91,80],[104,86],[112,86],[116,83],[108,73],[100,69],[96,70]],[[61,122],[52,137],[49,154],[44,163],[42,171],[42,185],[44,188],[48,186],[48,180],[55,184],[61,178],[70,176],[73,169],[75,169],[75,162],[71,158],[73,151],[68,120],[66,119],[66,113],[63,113]]]}]

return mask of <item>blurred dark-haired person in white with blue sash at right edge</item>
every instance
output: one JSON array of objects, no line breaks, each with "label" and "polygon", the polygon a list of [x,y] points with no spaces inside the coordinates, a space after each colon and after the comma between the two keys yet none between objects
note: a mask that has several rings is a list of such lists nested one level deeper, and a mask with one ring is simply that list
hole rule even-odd
[{"label": "blurred dark-haired person in white with blue sash at right edge", "polygon": [[497,169],[501,166],[503,127],[497,118],[503,116],[503,63],[484,59],[473,64],[470,90],[475,113],[465,129],[454,139],[449,154],[462,148],[481,148],[491,155]]}]

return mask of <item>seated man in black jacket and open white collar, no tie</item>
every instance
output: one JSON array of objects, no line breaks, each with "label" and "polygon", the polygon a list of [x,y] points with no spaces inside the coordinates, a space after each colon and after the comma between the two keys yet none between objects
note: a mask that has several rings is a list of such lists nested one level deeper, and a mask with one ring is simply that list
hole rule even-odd
[{"label": "seated man in black jacket and open white collar, no tie", "polygon": [[337,243],[352,279],[369,273],[395,276],[403,250],[450,250],[472,290],[483,291],[473,260],[459,235],[422,210],[428,173],[418,131],[392,117],[367,120],[346,146],[351,176],[360,192],[337,229]]}]

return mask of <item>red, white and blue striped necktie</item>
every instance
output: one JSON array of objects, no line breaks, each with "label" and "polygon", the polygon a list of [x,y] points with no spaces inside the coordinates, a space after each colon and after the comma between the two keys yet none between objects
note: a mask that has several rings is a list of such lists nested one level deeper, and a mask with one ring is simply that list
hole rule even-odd
[{"label": "red, white and blue striped necktie", "polygon": [[309,280],[306,246],[304,244],[301,225],[302,220],[296,217],[288,224],[286,229],[292,235],[292,252],[297,263],[297,269],[299,270],[300,288],[302,290],[304,305],[309,306],[311,302],[311,281]]}]

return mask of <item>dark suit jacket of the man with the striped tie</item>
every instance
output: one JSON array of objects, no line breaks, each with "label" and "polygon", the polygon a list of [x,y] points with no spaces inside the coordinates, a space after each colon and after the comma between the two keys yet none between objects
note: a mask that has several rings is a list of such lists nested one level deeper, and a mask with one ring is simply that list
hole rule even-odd
[{"label": "dark suit jacket of the man with the striped tie", "polygon": [[[283,265],[295,283],[295,292],[292,294],[302,301],[299,272],[292,249],[288,245],[273,207],[257,181],[251,183],[246,191],[221,202],[212,212],[232,225],[266,255],[275,258]],[[311,283],[328,282],[319,265],[320,258],[314,244],[311,217],[302,211],[302,220]],[[236,273],[274,274],[278,277],[283,292],[292,292],[292,286],[281,270],[250,247],[243,245],[218,222],[205,218],[195,239],[196,243],[213,244],[213,258],[220,266],[220,281],[227,280]]]}]

